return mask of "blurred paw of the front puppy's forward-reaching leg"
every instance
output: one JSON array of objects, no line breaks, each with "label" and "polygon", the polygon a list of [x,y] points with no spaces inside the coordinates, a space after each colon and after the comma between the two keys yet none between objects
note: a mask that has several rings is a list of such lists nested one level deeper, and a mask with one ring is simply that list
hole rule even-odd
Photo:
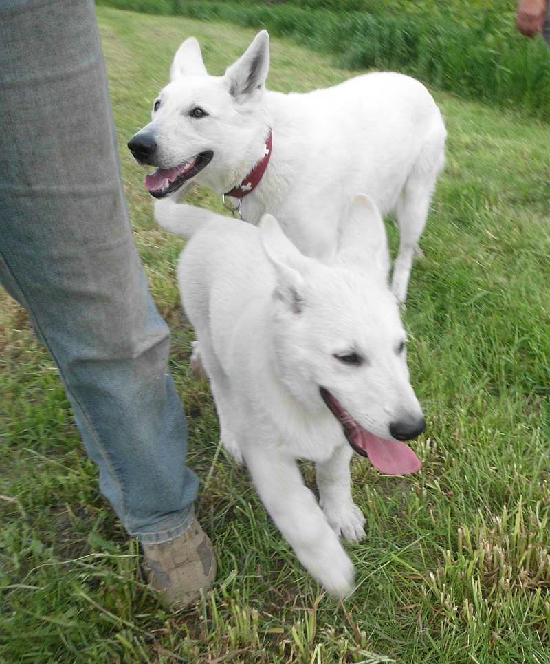
[{"label": "blurred paw of the front puppy's forward-reaching leg", "polygon": [[311,576],[331,595],[343,599],[353,592],[355,569],[338,538],[327,537],[296,553]]}]

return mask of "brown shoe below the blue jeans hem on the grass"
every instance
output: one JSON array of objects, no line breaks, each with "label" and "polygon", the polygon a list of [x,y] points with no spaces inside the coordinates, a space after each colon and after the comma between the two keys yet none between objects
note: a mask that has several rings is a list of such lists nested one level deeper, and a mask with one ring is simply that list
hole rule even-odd
[{"label": "brown shoe below the blue jeans hem on the grass", "polygon": [[147,580],[162,601],[176,609],[188,606],[208,590],[216,576],[214,547],[195,519],[179,537],[162,544],[142,544]]}]

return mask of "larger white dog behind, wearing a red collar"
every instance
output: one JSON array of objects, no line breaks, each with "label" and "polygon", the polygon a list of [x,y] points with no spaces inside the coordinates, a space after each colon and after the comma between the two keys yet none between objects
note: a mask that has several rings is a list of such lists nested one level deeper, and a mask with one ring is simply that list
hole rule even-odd
[{"label": "larger white dog behind, wearing a red collar", "polygon": [[270,92],[269,61],[265,30],[224,76],[209,76],[197,40],[184,41],[151,122],[128,144],[140,163],[159,167],[147,189],[162,197],[196,182],[232,195],[244,219],[275,215],[305,255],[320,259],[336,250],[351,196],[366,191],[397,217],[392,290],[404,301],[443,167],[445,126],[432,96],[391,73],[307,94]]}]

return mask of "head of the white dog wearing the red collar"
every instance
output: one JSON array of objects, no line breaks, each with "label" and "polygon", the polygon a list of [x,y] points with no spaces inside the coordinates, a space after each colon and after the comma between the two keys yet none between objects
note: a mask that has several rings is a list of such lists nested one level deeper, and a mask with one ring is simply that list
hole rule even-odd
[{"label": "head of the white dog wearing the red collar", "polygon": [[157,167],[145,178],[151,195],[184,193],[194,183],[223,193],[243,180],[269,133],[262,110],[269,67],[265,30],[224,76],[208,75],[194,37],[181,44],[151,122],[128,142],[137,162]]}]

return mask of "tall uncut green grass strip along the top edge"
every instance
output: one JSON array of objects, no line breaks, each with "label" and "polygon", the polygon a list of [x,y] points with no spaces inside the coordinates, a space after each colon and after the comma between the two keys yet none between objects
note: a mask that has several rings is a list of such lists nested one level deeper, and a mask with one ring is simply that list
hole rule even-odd
[{"label": "tall uncut green grass strip along the top edge", "polygon": [[391,69],[426,83],[550,120],[550,51],[521,36],[514,0],[100,0],[153,14],[182,14],[267,28],[332,53],[342,67]]}]

